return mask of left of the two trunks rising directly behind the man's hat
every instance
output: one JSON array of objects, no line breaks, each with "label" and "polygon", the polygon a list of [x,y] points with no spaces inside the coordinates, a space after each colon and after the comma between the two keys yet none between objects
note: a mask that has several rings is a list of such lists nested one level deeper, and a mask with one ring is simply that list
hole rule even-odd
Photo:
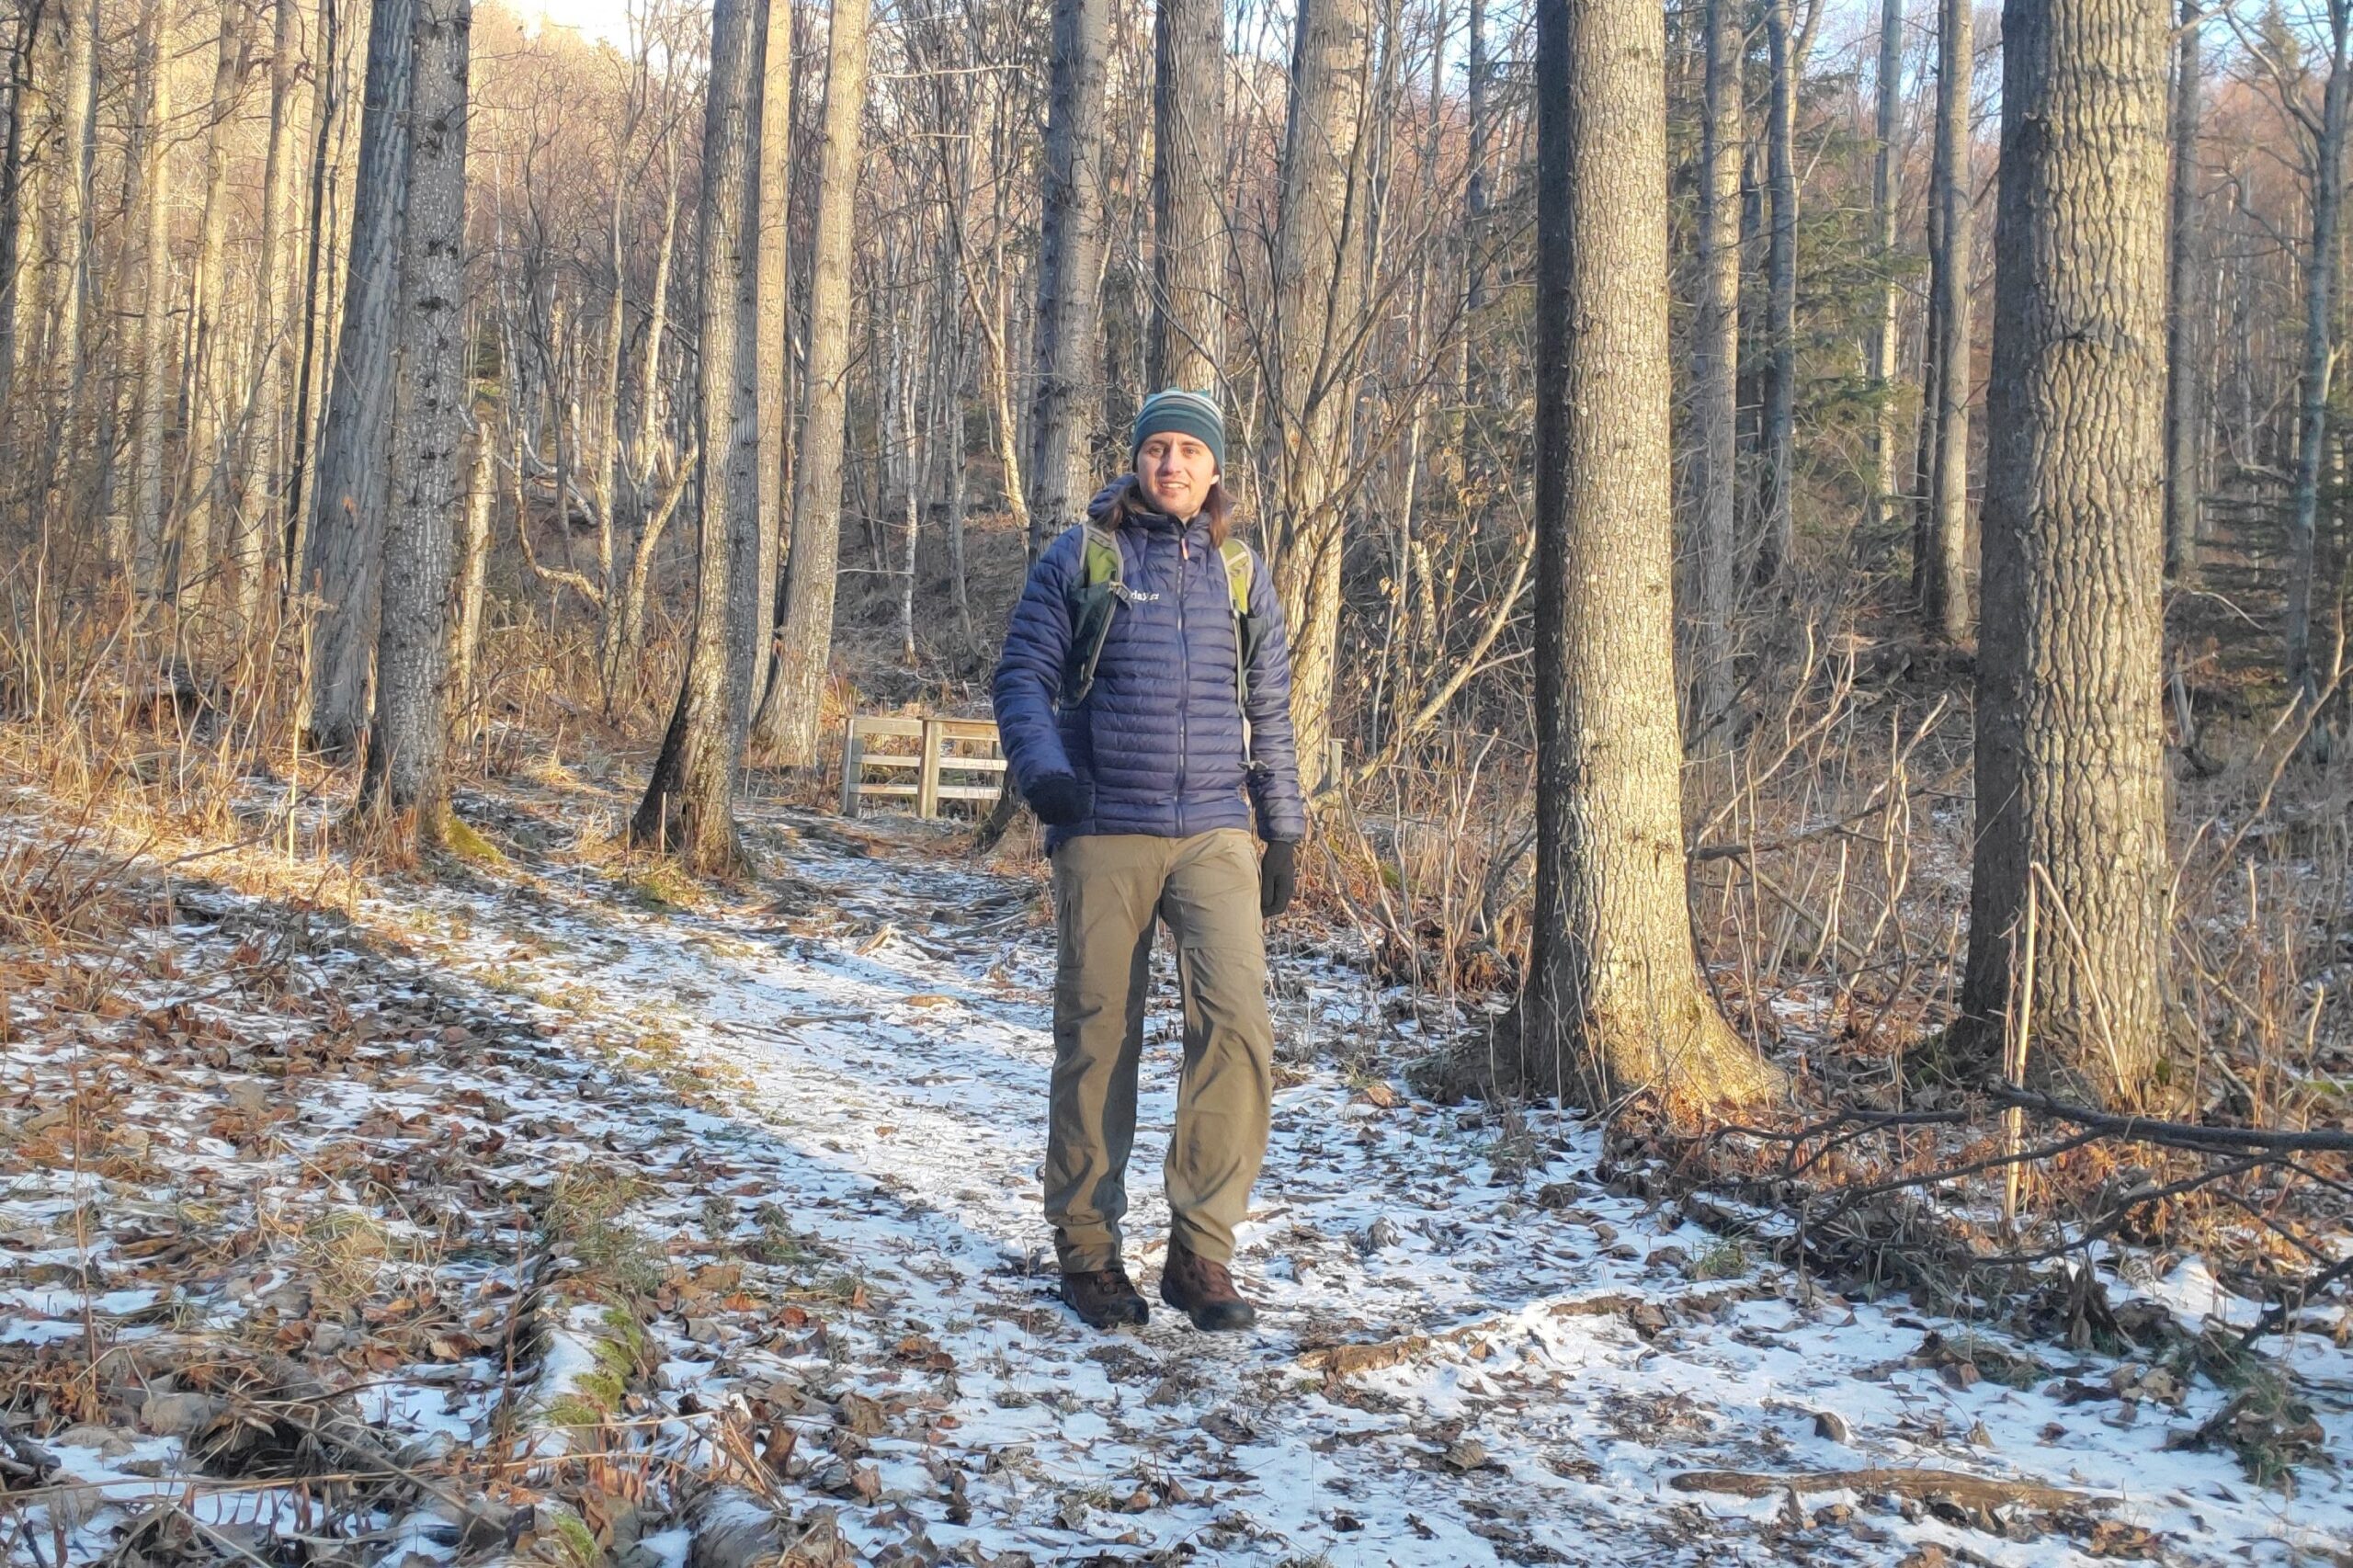
[{"label": "left of the two trunks rising directly behind the man's hat", "polygon": [[1078,459],[1085,457],[1078,410],[1094,379],[1094,290],[1104,271],[1108,40],[1108,0],[1054,0],[1045,224],[1038,240],[1038,391],[1031,403],[1031,558],[1056,530],[1078,520],[1089,483],[1078,471]]}]

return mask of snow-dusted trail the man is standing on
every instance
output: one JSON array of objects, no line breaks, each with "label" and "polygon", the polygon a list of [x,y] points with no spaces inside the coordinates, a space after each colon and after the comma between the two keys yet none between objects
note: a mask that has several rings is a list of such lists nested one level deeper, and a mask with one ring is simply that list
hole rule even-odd
[{"label": "snow-dusted trail the man is standing on", "polygon": [[[391,888],[362,925],[598,1064],[628,1107],[605,1147],[645,1177],[628,1222],[673,1257],[781,1217],[791,1248],[826,1260],[833,1295],[795,1297],[816,1333],[807,1309],[788,1333],[741,1290],[671,1293],[656,1398],[793,1408],[788,1389],[814,1389],[854,1413],[831,1457],[812,1441],[779,1471],[795,1500],[838,1507],[868,1561],[2346,1561],[2341,1471],[2308,1469],[2285,1500],[2228,1453],[2169,1446],[2224,1389],[1805,1290],[1595,1184],[1574,1123],[1504,1130],[1327,1059],[1285,1071],[1242,1236],[1261,1330],[1205,1337],[1155,1309],[1141,1333],[1089,1333],[1049,1300],[1038,1215],[1038,888],[915,826],[779,812],[755,843],[791,869],[772,904],[682,913],[548,864]],[[1381,1026],[1348,970],[1280,968],[1294,1041]],[[1162,970],[1129,1215],[1148,1295],[1176,1055]],[[2315,1403],[2344,1453],[2353,1361],[2287,1354],[2334,1389]],[[1802,1500],[1673,1486],[1871,1467],[2097,1502],[1993,1519],[1882,1483]]]}]

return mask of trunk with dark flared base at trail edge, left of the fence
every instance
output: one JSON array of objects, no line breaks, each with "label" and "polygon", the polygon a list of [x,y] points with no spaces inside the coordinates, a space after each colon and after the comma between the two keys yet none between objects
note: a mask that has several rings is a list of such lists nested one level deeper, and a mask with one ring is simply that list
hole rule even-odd
[{"label": "trunk with dark flared base at trail edge, left of the fence", "polygon": [[755,572],[760,356],[744,341],[755,332],[760,308],[765,47],[767,0],[718,0],[711,7],[696,320],[701,549],[694,640],[654,777],[631,819],[631,838],[675,848],[701,873],[727,873],[741,864],[734,779],[751,716],[751,650],[765,607]]}]

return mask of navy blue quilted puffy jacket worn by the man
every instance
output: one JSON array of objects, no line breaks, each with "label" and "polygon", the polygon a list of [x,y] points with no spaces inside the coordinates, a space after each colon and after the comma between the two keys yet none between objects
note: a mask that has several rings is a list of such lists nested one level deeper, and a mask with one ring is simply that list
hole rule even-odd
[{"label": "navy blue quilted puffy jacket worn by the man", "polygon": [[[1096,525],[1125,483],[1094,497],[1087,511]],[[1252,808],[1261,838],[1304,838],[1292,655],[1266,563],[1254,558],[1249,574],[1249,614],[1266,633],[1249,669],[1245,756],[1233,702],[1233,598],[1209,523],[1129,513],[1115,539],[1129,596],[1111,617],[1087,702],[1059,706],[1071,596],[1085,577],[1082,527],[1066,530],[1031,567],[991,685],[1005,758],[1024,793],[1056,772],[1094,786],[1089,815],[1049,829],[1047,848],[1082,833],[1186,838],[1247,829]]]}]

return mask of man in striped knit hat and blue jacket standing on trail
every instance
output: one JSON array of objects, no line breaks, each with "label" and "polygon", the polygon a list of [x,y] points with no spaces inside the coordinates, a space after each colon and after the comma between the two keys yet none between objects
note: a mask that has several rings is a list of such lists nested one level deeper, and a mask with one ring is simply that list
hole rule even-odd
[{"label": "man in striped knit hat and blue jacket standing on trail", "polygon": [[1273,1102],[1259,921],[1289,906],[1306,836],[1292,662],[1264,563],[1226,537],[1217,400],[1153,393],[1129,450],[1134,473],[1031,567],[993,685],[1005,758],[1054,862],[1045,1215],[1078,1316],[1144,1323],[1120,1217],[1153,923],[1167,921],[1184,1076],[1160,1300],[1195,1328],[1235,1330],[1257,1321],[1228,1264]]}]

